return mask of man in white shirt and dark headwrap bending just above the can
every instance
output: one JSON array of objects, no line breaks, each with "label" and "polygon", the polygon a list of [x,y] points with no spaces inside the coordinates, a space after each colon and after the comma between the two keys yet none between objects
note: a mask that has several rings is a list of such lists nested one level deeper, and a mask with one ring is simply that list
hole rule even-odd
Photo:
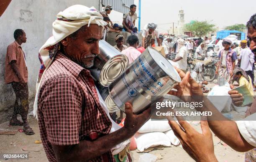
[{"label": "man in white shirt and dark headwrap bending just above the can", "polygon": [[158,46],[160,46],[159,31],[156,27],[157,25],[154,23],[148,23],[144,26],[142,32],[142,47],[147,48],[150,46],[151,38],[156,38]]}]

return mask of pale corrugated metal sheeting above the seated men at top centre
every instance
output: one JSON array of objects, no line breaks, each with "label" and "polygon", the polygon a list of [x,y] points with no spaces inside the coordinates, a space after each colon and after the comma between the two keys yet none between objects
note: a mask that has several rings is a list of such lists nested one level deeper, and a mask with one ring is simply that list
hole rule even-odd
[{"label": "pale corrugated metal sheeting above the seated men at top centre", "polygon": [[134,4],[134,0],[102,0],[102,5],[111,5],[113,10],[120,13],[128,13],[130,5]]}]

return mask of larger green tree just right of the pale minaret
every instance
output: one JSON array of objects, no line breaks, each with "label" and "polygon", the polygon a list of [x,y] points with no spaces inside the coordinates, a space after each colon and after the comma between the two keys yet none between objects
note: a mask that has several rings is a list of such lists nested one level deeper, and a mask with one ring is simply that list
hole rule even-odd
[{"label": "larger green tree just right of the pale minaret", "polygon": [[215,31],[215,25],[208,21],[193,21],[192,23],[185,24],[184,29],[191,31],[193,35],[201,37],[209,32]]}]

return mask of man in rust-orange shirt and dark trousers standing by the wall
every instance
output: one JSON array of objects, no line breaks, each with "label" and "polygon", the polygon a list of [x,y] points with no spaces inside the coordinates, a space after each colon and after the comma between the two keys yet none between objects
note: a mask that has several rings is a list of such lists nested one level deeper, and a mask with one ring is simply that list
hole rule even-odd
[{"label": "man in rust-orange shirt and dark trousers standing by the wall", "polygon": [[[35,134],[27,122],[28,115],[28,69],[26,65],[25,53],[21,48],[22,43],[26,43],[26,33],[22,29],[14,31],[15,41],[7,48],[5,58],[5,83],[12,84],[16,100],[14,104],[13,116],[10,125],[23,125],[23,131],[27,135]],[[20,106],[18,105],[20,99]],[[23,123],[17,119],[20,114]]]}]

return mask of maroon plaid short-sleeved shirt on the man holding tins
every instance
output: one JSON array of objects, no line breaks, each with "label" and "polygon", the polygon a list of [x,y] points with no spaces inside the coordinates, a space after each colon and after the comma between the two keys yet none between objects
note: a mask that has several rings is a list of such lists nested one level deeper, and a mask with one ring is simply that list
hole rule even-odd
[{"label": "maroon plaid short-sleeved shirt on the man holding tins", "polygon": [[[90,71],[58,53],[42,79],[38,124],[50,162],[56,162],[51,144],[79,144],[91,133],[109,134],[112,124],[100,105]],[[111,152],[107,154],[109,161],[114,161]]]}]

